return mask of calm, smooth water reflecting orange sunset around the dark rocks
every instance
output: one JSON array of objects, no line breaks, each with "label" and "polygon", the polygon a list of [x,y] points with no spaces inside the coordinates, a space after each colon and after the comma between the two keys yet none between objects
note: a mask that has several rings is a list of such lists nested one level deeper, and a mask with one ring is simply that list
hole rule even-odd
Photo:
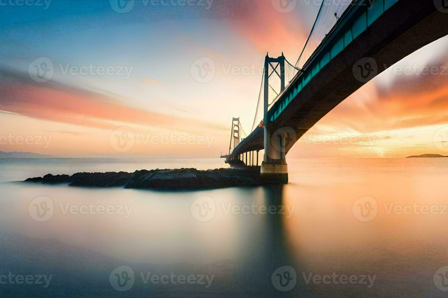
[{"label": "calm, smooth water reflecting orange sunset around the dark rocks", "polygon": [[[448,158],[288,164],[284,186],[169,193],[11,181],[47,173],[218,168],[223,161],[0,159],[0,295],[447,295],[439,288],[448,287],[448,275],[439,269],[448,265]],[[33,201],[38,197],[53,203],[51,217],[40,218],[45,221],[33,219],[42,207]],[[98,214],[86,206],[111,209]],[[209,213],[199,214],[201,206]],[[272,214],[261,214],[262,206]],[[114,271],[121,266],[134,278],[128,267]],[[283,266],[286,273],[278,269]],[[2,283],[9,273],[52,279]]]}]

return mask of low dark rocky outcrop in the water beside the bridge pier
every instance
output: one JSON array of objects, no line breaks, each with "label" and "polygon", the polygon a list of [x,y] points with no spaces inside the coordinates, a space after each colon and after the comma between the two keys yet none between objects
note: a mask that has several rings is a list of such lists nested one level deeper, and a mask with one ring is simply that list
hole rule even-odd
[{"label": "low dark rocky outcrop in the water beside the bridge pier", "polygon": [[124,187],[126,189],[196,190],[259,185],[259,172],[234,168],[155,169],[128,172],[75,173],[28,178],[24,182],[82,187]]}]

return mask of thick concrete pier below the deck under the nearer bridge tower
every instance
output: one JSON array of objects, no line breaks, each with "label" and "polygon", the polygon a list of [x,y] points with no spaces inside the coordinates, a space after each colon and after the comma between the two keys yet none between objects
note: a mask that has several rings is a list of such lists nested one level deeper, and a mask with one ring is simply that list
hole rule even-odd
[{"label": "thick concrete pier below the deck under the nearer bridge tower", "polygon": [[[286,134],[276,131],[271,134],[267,129],[268,138],[265,139],[265,155],[261,164],[260,179],[263,183],[287,184],[288,164],[286,164],[285,141]],[[267,142],[266,142],[267,141]]]}]

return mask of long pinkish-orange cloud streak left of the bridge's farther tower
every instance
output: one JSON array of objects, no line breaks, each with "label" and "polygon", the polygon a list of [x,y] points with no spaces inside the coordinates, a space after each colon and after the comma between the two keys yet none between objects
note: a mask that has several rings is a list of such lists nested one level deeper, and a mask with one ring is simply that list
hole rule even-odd
[{"label": "long pinkish-orange cloud streak left of the bridge's farther tower", "polygon": [[110,122],[125,122],[179,131],[227,128],[195,119],[169,116],[127,107],[116,98],[57,83],[38,84],[17,73],[2,73],[2,110],[33,118],[87,127],[115,129]]}]

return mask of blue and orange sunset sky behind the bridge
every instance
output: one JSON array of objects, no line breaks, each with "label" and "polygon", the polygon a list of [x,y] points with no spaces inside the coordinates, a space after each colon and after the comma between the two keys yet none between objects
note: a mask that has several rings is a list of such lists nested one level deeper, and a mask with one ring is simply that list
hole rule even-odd
[{"label": "blue and orange sunset sky behind the bridge", "polygon": [[[0,0],[0,151],[219,157],[233,117],[250,133],[266,53],[295,62],[319,10],[279,1]],[[447,46],[364,85],[288,158],[448,155]]]}]

